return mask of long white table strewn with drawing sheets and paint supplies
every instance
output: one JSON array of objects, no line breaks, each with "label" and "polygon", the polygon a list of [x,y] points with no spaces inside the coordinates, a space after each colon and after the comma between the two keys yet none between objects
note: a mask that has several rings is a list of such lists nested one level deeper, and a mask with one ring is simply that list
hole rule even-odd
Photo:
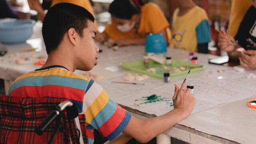
[{"label": "long white table strewn with drawing sheets and paint supplies", "polygon": [[[34,34],[30,39],[32,39],[30,40],[30,42],[32,41],[32,46],[27,43],[0,45],[9,50],[8,54],[0,60],[0,78],[5,81],[6,90],[18,76],[40,68],[40,66],[33,65],[38,59],[32,56],[35,56],[35,54],[36,56],[47,56],[40,26],[34,27]],[[39,51],[21,52],[21,49],[31,47],[38,48],[37,50]],[[95,66],[92,72],[104,77],[104,79],[96,80],[96,82],[103,86],[110,98],[131,111],[138,118],[152,118],[172,109],[167,106],[167,109],[160,110],[162,105],[166,104],[164,102],[151,104],[148,107],[142,105],[142,108],[134,106],[133,102],[136,98],[139,99],[141,96],[149,96],[155,93],[162,94],[162,96],[170,99],[170,96],[173,95],[173,84],[181,84],[184,76],[171,78],[171,82],[168,84],[157,78],[149,78],[140,82],[146,83],[144,87],[113,84],[110,81],[121,81],[122,76],[129,73],[120,66],[120,63],[141,60],[144,55],[144,46],[126,46],[117,51],[102,45],[99,48],[103,52],[99,53],[98,66]],[[20,59],[20,56],[8,57],[10,54],[15,53],[19,53],[20,56],[23,56],[23,54],[30,56],[30,60],[24,64],[16,64],[13,59]],[[188,61],[188,53],[182,50],[168,50],[168,54],[172,56],[172,59],[178,60]],[[188,83],[196,84],[196,107],[188,118],[158,136],[158,144],[170,144],[170,136],[192,144],[255,143],[256,110],[248,108],[246,104],[247,100],[256,98],[256,95],[254,95],[256,94],[254,90],[256,86],[255,80],[245,78],[249,73],[255,74],[255,71],[234,72],[230,67],[208,64],[208,59],[216,56],[209,54],[196,54],[196,56],[198,56],[198,64],[207,66],[201,72],[190,74],[187,80]],[[9,62],[10,60],[11,62]],[[218,73],[218,69],[224,70],[224,72]],[[76,71],[76,73],[80,74],[79,71]],[[212,77],[208,78],[207,75]],[[220,78],[220,76],[223,78]],[[235,82],[240,82],[241,87]],[[146,108],[152,109],[154,107],[156,110],[146,110]]]}]

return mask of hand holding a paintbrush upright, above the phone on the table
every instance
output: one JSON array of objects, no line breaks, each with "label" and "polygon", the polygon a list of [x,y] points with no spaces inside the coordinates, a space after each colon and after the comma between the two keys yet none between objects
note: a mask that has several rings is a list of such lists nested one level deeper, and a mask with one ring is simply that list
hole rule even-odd
[{"label": "hand holding a paintbrush upright, above the phone on the table", "polygon": [[220,49],[226,52],[232,52],[235,49],[235,45],[230,42],[230,40],[233,42],[235,41],[234,38],[229,34],[226,34],[226,32],[224,32],[224,34],[219,34],[218,45]]}]

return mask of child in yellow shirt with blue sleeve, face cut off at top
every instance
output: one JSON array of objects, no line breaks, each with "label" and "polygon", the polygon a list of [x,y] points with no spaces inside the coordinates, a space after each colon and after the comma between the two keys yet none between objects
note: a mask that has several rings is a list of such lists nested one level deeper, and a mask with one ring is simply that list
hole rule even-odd
[{"label": "child in yellow shirt with blue sleeve, face cut off at top", "polygon": [[206,12],[191,0],[176,0],[171,21],[171,48],[208,53],[210,26]]}]

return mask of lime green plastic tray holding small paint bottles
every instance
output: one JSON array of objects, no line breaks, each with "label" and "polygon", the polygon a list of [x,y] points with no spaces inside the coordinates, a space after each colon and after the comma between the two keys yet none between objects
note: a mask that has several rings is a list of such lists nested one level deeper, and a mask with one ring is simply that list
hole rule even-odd
[{"label": "lime green plastic tray holding small paint bottles", "polygon": [[[156,78],[164,78],[164,72],[168,72],[168,70],[173,69],[174,67],[179,68],[180,66],[185,66],[185,67],[190,67],[190,69],[182,70],[181,72],[171,73],[170,74],[171,78],[176,77],[176,76],[186,75],[186,74],[188,74],[189,70],[191,70],[190,71],[190,74],[191,74],[194,72],[199,72],[200,70],[202,70],[204,68],[204,66],[201,66],[198,64],[192,64],[189,62],[183,62],[180,60],[173,60],[173,59],[172,59],[172,64],[170,66],[168,66],[166,64],[159,64],[158,62],[155,62],[155,61],[149,59],[149,66],[150,66],[149,68],[155,68],[156,73],[146,71],[149,68],[146,68],[143,60],[125,62],[125,63],[122,63],[121,65],[126,70],[131,70],[133,72],[138,72],[140,74],[147,74],[148,76],[152,76],[152,77],[156,77]],[[163,70],[163,68],[162,68],[163,66],[167,66],[168,70]]]}]

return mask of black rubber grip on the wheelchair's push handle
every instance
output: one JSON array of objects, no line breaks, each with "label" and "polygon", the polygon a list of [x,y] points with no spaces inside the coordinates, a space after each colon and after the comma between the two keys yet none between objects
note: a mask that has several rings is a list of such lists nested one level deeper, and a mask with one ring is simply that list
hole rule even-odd
[{"label": "black rubber grip on the wheelchair's push handle", "polygon": [[60,112],[58,110],[52,111],[42,122],[39,126],[36,127],[36,134],[41,136],[46,128],[54,122],[54,120],[59,116]]}]

